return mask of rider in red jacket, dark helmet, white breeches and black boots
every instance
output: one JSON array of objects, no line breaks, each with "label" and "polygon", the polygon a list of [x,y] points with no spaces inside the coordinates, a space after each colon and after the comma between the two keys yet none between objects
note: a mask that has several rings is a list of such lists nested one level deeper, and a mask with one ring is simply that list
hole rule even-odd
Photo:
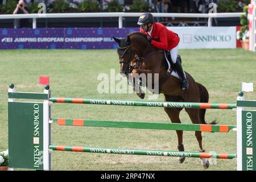
[{"label": "rider in red jacket, dark helmet, white breeches and black boots", "polygon": [[175,32],[168,30],[163,24],[154,23],[154,17],[151,13],[139,16],[137,24],[141,26],[139,31],[147,35],[147,40],[152,46],[170,51],[172,62],[181,78],[181,90],[188,89],[188,82],[180,64],[181,58],[177,56],[180,42],[179,36]]}]

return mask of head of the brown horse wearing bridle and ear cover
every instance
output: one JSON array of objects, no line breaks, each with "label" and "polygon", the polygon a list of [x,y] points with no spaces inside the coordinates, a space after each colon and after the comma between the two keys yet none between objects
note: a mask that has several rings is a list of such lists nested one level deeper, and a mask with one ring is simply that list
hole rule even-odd
[{"label": "head of the brown horse wearing bridle and ear cover", "polygon": [[117,54],[119,56],[120,73],[122,76],[128,76],[131,68],[131,60],[135,56],[135,52],[131,49],[131,40],[128,35],[125,39],[114,38],[118,43]]}]

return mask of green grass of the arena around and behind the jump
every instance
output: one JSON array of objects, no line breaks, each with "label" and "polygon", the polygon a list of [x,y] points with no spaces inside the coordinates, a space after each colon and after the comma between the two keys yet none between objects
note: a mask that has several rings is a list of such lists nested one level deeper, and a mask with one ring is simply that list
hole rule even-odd
[{"label": "green grass of the arena around and behind the jump", "polygon": [[[209,91],[210,102],[236,103],[241,82],[255,82],[256,53],[243,49],[180,50],[183,68]],[[7,50],[0,51],[0,151],[8,148],[7,89],[13,82],[18,92],[42,92],[40,75],[50,77],[53,97],[139,100],[136,94],[99,94],[100,73],[119,72],[115,50]],[[255,93],[245,93],[249,100]],[[147,97],[146,97],[147,98]],[[163,95],[158,98],[163,101]],[[163,108],[55,104],[53,118],[106,119],[170,122]],[[191,123],[185,111],[183,123]],[[232,110],[207,110],[208,122],[236,125]],[[177,150],[175,131],[72,127],[52,125],[52,143],[60,145]],[[206,151],[236,152],[236,133],[203,133]],[[186,151],[199,151],[193,131],[184,131]],[[201,160],[133,155],[60,152],[52,154],[53,170],[203,170]],[[208,170],[236,170],[236,160],[216,161]]]}]

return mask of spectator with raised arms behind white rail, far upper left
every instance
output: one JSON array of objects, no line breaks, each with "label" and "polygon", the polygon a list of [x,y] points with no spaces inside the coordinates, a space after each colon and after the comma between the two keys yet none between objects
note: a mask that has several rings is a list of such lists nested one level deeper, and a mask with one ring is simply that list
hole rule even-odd
[{"label": "spectator with raised arms behind white rail, far upper left", "polygon": [[[28,14],[28,8],[26,6],[26,1],[19,0],[16,5],[13,14]],[[14,28],[24,28],[28,26],[28,19],[14,19]]]}]

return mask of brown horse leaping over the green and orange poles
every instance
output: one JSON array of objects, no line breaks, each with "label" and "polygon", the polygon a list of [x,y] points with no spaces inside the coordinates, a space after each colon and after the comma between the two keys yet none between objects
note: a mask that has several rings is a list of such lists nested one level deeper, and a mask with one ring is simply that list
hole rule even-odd
[{"label": "brown horse leaping over the green and orange poles", "polygon": [[[166,56],[163,49],[155,48],[148,42],[146,35],[141,32],[131,32],[126,38],[118,39],[113,37],[118,43],[117,53],[119,56],[120,73],[128,77],[130,74],[158,74],[158,80],[154,83],[159,85],[159,94],[164,94],[164,101],[169,102],[208,102],[209,93],[207,88],[196,82],[194,78],[185,72],[189,88],[181,90],[180,80],[177,77],[171,76],[167,71]],[[133,77],[134,78],[134,77]],[[144,83],[148,87],[147,84]],[[133,85],[134,86],[134,85]],[[140,98],[144,98],[144,93],[141,89],[137,93]],[[183,108],[168,108],[164,107],[164,111],[168,114],[172,123],[181,123],[179,114]],[[191,109],[185,108],[192,123],[207,124],[205,122],[206,109]],[[216,121],[212,121],[207,125],[215,125]],[[183,145],[183,131],[176,130],[177,134],[177,149],[184,151]],[[200,152],[205,152],[202,144],[201,131],[195,131],[197,142],[199,143]],[[184,157],[179,158],[179,163],[183,163]],[[204,168],[209,167],[209,161],[201,158]]]}]

